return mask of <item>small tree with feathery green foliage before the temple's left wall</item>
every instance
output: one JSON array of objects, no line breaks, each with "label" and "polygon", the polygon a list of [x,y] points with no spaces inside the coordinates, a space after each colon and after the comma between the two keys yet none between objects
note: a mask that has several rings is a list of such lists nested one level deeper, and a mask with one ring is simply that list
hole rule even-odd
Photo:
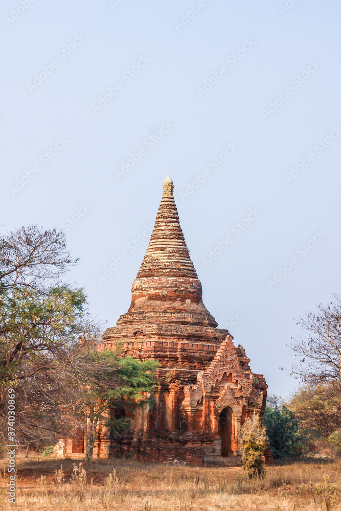
[{"label": "small tree with feathery green foliage before the temple's left wall", "polygon": [[[116,433],[127,430],[134,409],[150,404],[150,393],[157,388],[154,376],[157,361],[140,361],[122,356],[120,349],[96,350],[94,347],[80,347],[71,375],[73,386],[80,389],[75,411],[79,420],[83,418],[87,425],[87,461],[92,459],[98,423],[102,421]],[[124,413],[115,413],[120,410]],[[130,417],[126,412],[130,412]]]}]

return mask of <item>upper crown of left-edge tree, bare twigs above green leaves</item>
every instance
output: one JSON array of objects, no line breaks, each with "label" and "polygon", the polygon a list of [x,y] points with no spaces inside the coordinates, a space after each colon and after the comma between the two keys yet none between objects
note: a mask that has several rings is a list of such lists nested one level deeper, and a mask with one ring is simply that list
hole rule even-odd
[{"label": "upper crown of left-edge tree, bare twigs above green leaves", "polygon": [[[58,366],[56,356],[89,328],[82,289],[62,284],[75,264],[55,229],[0,236],[0,387]],[[58,357],[57,357],[58,358]]]}]

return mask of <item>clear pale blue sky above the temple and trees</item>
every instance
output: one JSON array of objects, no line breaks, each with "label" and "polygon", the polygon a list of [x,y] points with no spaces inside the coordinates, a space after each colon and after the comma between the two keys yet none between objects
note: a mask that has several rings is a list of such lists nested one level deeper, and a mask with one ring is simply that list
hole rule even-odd
[{"label": "clear pale blue sky above the temple and trees", "polygon": [[[340,292],[341,5],[3,0],[0,11],[2,232],[64,227],[80,257],[71,280],[114,326],[169,174],[205,305],[287,396],[292,318]],[[121,175],[130,153],[140,159]]]}]

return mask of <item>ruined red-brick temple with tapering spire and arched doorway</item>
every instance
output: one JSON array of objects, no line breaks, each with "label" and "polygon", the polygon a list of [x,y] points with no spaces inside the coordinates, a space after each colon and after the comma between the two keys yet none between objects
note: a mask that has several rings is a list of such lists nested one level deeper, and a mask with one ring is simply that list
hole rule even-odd
[{"label": "ruined red-brick temple with tapering spire and arched doorway", "polygon": [[250,414],[263,415],[267,385],[243,347],[217,326],[202,301],[168,176],[130,307],[103,335],[103,347],[120,342],[126,355],[158,360],[158,390],[129,432],[99,428],[94,456],[240,464],[240,427]]}]

